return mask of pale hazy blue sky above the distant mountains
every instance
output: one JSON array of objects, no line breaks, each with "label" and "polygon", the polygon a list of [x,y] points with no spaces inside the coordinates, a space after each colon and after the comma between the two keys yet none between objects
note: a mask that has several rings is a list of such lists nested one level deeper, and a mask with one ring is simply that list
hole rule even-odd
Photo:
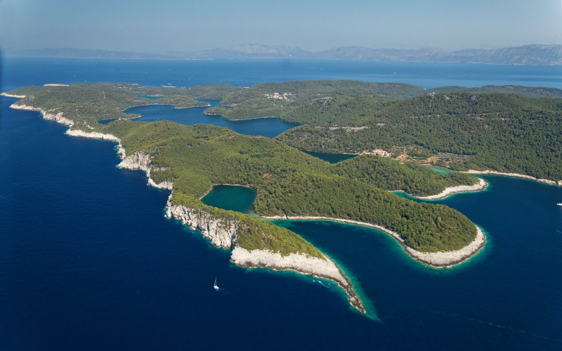
[{"label": "pale hazy blue sky above the distant mountains", "polygon": [[561,0],[0,0],[0,48],[200,51],[247,43],[447,49],[562,44]]}]

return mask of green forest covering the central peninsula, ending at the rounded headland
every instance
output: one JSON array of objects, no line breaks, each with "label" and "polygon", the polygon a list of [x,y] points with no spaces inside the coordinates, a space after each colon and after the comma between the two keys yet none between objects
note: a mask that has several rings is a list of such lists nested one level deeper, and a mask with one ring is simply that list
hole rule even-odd
[{"label": "green forest covering the central peninsula, ending at the rounded headland", "polygon": [[[256,190],[255,210],[259,215],[360,220],[396,230],[408,245],[421,251],[460,249],[476,236],[476,227],[458,211],[403,199],[361,177],[355,165],[374,156],[361,157],[346,168],[277,140],[244,136],[216,126],[116,121],[109,128],[122,138],[128,154],[143,151],[152,155],[152,165],[162,171],[152,171],[151,176],[157,183],[174,181],[174,204],[207,211],[209,206],[204,207],[199,199],[212,185],[239,184]],[[421,172],[417,176],[423,177]],[[216,216],[232,216],[227,211],[213,211]],[[245,218],[241,213],[237,216]],[[253,243],[247,248],[253,249],[260,241],[244,237],[242,242]],[[263,245],[260,247],[270,248]]]}]

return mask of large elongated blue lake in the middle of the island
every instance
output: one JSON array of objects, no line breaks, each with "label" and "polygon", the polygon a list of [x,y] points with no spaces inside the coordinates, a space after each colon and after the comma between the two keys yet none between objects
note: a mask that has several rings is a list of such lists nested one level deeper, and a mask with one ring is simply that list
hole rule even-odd
[{"label": "large elongated blue lake in the middle of the island", "polygon": [[[209,102],[209,105],[218,105],[218,100],[199,100]],[[299,126],[296,123],[282,121],[277,117],[267,117],[259,119],[244,119],[240,121],[229,121],[221,116],[209,116],[203,114],[209,107],[190,107],[187,109],[176,109],[173,105],[144,105],[129,107],[124,112],[126,114],[140,114],[141,117],[135,121],[174,121],[179,124],[192,126],[193,124],[213,124],[229,128],[244,135],[262,135],[273,138],[284,131]],[[107,121],[108,122],[108,121]],[[103,122],[102,122],[103,123]]]}]

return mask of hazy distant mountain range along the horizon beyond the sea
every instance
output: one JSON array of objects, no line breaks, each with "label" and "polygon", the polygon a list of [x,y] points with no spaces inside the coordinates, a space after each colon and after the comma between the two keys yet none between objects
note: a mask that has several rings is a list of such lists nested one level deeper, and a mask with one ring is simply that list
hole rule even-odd
[{"label": "hazy distant mountain range along the horizon beyond the sea", "polygon": [[493,50],[466,49],[446,51],[440,48],[416,50],[347,46],[311,52],[291,46],[244,44],[197,52],[131,53],[125,51],[84,50],[79,48],[41,48],[9,53],[19,56],[66,58],[143,58],[143,59],[288,59],[366,60],[405,62],[462,62],[501,65],[562,65],[562,45],[525,45]]}]

